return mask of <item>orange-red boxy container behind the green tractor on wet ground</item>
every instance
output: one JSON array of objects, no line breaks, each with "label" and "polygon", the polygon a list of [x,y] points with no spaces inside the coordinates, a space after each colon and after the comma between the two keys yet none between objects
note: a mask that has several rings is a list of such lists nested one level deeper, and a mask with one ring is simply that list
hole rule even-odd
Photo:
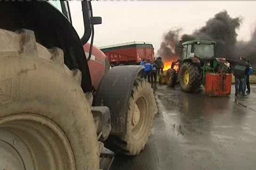
[{"label": "orange-red boxy container behind the green tractor on wet ground", "polygon": [[205,94],[207,96],[228,96],[231,92],[232,74],[207,73]]}]

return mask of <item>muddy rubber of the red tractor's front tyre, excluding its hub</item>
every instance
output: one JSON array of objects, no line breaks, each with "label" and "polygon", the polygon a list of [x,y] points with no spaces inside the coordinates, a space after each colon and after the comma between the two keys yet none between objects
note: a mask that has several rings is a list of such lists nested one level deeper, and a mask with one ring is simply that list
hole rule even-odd
[{"label": "muddy rubber of the red tractor's front tyre, excluding its hub", "polygon": [[[142,136],[140,136],[139,139],[134,140],[134,136],[131,133],[131,116],[132,116],[132,110],[135,100],[137,99],[137,94],[141,91],[147,92],[149,94],[149,98],[147,99],[149,103],[149,115],[148,115],[148,122],[145,124],[145,133],[143,133]],[[145,94],[144,92],[144,94]],[[129,106],[128,106],[128,115],[127,115],[127,133],[125,133],[122,136],[110,136],[107,142],[107,146],[118,153],[122,153],[125,155],[138,155],[141,150],[144,149],[145,144],[148,140],[148,137],[151,133],[151,127],[153,125],[153,119],[154,115],[157,113],[157,105],[154,100],[154,94],[153,89],[151,88],[151,84],[147,82],[146,79],[141,79],[140,77],[137,77],[137,79],[134,81],[134,87],[131,91],[131,96],[129,100]]]}]

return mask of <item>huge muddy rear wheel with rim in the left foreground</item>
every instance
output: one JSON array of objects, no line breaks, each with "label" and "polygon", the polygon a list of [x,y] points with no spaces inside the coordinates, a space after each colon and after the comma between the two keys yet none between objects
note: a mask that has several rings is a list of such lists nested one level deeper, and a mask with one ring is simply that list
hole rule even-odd
[{"label": "huge muddy rear wheel with rim in the left foreground", "polygon": [[81,72],[33,31],[0,29],[0,169],[99,170]]}]

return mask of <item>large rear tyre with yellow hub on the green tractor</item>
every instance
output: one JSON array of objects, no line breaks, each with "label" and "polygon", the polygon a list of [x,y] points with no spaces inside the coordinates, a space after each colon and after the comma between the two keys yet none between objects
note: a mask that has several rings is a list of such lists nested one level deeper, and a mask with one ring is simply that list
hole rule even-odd
[{"label": "large rear tyre with yellow hub on the green tractor", "polygon": [[199,88],[201,83],[200,71],[197,65],[185,62],[179,71],[180,87],[183,91],[192,93]]}]

